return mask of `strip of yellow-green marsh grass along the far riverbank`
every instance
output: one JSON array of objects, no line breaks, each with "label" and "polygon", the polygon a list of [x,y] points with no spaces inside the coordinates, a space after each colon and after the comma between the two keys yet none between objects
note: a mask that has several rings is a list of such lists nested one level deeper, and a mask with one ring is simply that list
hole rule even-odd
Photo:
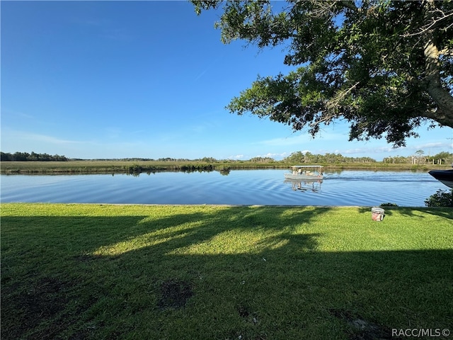
[{"label": "strip of yellow-green marsh grass along the far riverbank", "polygon": [[[160,171],[223,171],[246,169],[289,169],[294,164],[283,162],[197,162],[197,161],[122,161],[122,160],[76,160],[67,162],[8,161],[1,162],[0,174],[141,174]],[[432,169],[451,169],[450,164],[389,164],[384,162],[369,163],[333,163],[319,164],[325,169],[339,170],[401,170],[430,171]]]}]

